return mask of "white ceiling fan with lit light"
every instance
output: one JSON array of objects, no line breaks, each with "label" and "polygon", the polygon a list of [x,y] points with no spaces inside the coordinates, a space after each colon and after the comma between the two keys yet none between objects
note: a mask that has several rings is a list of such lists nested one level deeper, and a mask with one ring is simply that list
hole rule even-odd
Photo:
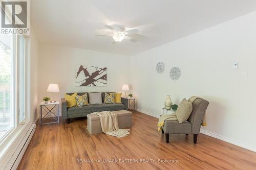
[{"label": "white ceiling fan with lit light", "polygon": [[137,40],[130,37],[130,34],[135,34],[139,33],[138,29],[132,29],[132,30],[126,30],[123,26],[120,25],[105,25],[106,28],[110,29],[112,31],[112,34],[107,34],[107,35],[95,35],[96,37],[99,36],[112,36],[112,38],[115,40],[114,43],[116,42],[121,42],[123,39],[130,40],[132,42],[136,42]]}]

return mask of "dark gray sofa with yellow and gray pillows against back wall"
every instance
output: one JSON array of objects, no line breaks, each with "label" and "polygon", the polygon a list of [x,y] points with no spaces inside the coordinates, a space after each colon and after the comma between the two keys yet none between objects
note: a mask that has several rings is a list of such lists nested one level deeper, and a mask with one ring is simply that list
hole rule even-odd
[{"label": "dark gray sofa with yellow and gray pillows against back wall", "polygon": [[[83,95],[87,92],[79,92],[78,95]],[[72,95],[74,93],[67,93]],[[67,119],[67,122],[70,123],[71,118],[75,117],[86,117],[88,114],[96,111],[116,111],[116,110],[128,110],[127,100],[121,98],[122,103],[116,104],[104,104],[104,92],[101,93],[102,104],[93,104],[82,107],[67,107],[67,101],[65,98],[61,99],[61,110],[62,110],[62,119]],[[88,95],[88,100],[90,104],[90,98]]]}]

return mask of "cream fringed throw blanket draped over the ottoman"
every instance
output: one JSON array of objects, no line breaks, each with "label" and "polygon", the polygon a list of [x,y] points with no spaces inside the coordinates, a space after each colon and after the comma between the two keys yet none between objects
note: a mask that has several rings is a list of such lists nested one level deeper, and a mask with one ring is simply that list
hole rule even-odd
[{"label": "cream fringed throw blanket draped over the ottoman", "polygon": [[101,130],[105,134],[116,136],[118,138],[130,134],[130,129],[119,129],[117,115],[114,112],[102,111],[94,112],[92,114],[97,114],[99,116]]}]

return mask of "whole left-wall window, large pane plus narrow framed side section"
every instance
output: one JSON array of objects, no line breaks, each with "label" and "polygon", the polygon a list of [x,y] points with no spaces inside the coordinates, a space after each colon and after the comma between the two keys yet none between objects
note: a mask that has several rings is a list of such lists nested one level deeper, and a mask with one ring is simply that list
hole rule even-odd
[{"label": "whole left-wall window, large pane plus narrow framed side section", "polygon": [[25,120],[26,40],[0,34],[0,141]]}]

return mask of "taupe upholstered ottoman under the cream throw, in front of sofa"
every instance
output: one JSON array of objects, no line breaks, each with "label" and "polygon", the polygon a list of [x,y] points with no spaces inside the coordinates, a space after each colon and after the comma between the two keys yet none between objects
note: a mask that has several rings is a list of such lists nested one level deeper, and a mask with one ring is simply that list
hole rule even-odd
[{"label": "taupe upholstered ottoman under the cream throw, in front of sofa", "polygon": [[[113,111],[117,114],[118,119],[118,127],[127,128],[132,126],[132,112],[127,110],[118,110]],[[90,134],[102,133],[100,119],[96,114],[88,114],[87,115],[87,130]]]}]

